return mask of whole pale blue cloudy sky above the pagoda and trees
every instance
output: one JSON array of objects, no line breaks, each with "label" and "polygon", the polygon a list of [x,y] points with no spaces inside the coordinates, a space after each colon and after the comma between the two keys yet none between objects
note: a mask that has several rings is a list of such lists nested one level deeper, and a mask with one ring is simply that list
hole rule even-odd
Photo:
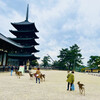
[{"label": "whole pale blue cloudy sky above the pagoda and trees", "polygon": [[25,20],[27,4],[29,21],[39,30],[35,55],[40,63],[47,54],[58,60],[60,50],[74,44],[84,65],[91,55],[100,56],[100,0],[0,0],[0,33],[14,37],[11,22]]}]

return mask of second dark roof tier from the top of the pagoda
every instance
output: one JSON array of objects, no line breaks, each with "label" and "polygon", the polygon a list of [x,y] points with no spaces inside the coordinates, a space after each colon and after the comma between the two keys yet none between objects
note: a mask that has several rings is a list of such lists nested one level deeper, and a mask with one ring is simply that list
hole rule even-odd
[{"label": "second dark roof tier from the top of the pagoda", "polygon": [[20,37],[34,37],[35,39],[38,39],[39,37],[35,34],[33,30],[26,30],[26,31],[13,31],[9,30],[13,35],[15,35],[17,38]]}]

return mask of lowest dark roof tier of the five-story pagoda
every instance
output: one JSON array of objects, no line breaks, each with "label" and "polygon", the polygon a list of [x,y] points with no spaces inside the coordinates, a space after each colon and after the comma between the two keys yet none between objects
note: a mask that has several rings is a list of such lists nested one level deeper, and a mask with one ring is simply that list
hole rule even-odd
[{"label": "lowest dark roof tier of the five-story pagoda", "polygon": [[34,54],[12,54],[9,53],[8,57],[14,58],[14,59],[29,59],[29,60],[35,60],[39,59],[39,57],[35,57]]}]

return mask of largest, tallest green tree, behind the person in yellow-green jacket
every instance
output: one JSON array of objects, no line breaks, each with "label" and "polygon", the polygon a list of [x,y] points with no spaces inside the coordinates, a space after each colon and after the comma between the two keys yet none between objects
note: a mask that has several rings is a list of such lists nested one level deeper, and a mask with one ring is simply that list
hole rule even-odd
[{"label": "largest, tallest green tree, behind the person in yellow-green jacket", "polygon": [[[77,44],[74,44],[69,49],[65,48],[60,51],[59,64],[62,69],[73,70],[82,64],[82,54]],[[61,69],[61,68],[60,68]]]}]

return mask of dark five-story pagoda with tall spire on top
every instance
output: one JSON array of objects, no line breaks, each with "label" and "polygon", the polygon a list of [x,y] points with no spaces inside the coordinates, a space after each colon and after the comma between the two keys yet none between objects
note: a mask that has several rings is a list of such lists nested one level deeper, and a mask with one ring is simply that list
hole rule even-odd
[{"label": "dark five-story pagoda with tall spire on top", "polygon": [[13,53],[8,53],[8,58],[17,59],[19,65],[26,65],[27,61],[39,59],[34,56],[34,53],[39,52],[35,49],[36,45],[39,45],[35,39],[39,37],[36,32],[39,32],[34,23],[28,21],[28,10],[27,6],[26,20],[19,23],[11,23],[16,30],[10,30],[10,32],[16,36],[16,38],[10,38],[14,42],[21,45],[21,48],[17,48]]}]

